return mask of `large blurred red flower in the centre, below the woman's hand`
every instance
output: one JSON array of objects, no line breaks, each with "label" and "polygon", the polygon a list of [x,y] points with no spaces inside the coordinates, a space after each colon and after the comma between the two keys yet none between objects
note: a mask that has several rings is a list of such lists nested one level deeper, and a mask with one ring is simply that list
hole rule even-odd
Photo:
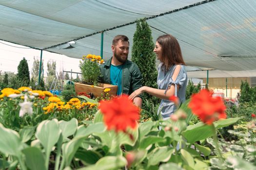
[{"label": "large blurred red flower in the centre, below the woman's hand", "polygon": [[136,128],[139,120],[139,108],[128,99],[127,95],[100,101],[99,109],[103,114],[107,129],[126,132],[127,127]]}]

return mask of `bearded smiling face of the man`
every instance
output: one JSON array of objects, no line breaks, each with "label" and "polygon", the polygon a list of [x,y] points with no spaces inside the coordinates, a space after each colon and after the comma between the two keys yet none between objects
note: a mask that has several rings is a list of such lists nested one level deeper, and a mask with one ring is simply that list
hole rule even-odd
[{"label": "bearded smiling face of the man", "polygon": [[129,54],[129,43],[119,40],[116,45],[112,45],[113,57],[119,62],[125,63]]}]

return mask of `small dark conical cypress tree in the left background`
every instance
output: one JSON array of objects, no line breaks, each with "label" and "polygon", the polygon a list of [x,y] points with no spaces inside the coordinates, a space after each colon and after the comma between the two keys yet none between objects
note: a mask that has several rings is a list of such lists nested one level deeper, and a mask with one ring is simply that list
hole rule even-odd
[{"label": "small dark conical cypress tree in the left background", "polygon": [[27,60],[23,57],[18,66],[18,74],[17,78],[22,81],[23,85],[29,85],[30,77],[29,77],[29,69]]}]

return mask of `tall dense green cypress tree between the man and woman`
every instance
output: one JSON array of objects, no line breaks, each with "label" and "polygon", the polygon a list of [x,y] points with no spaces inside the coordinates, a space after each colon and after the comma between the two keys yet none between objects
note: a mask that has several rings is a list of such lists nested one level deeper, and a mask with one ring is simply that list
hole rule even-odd
[{"label": "tall dense green cypress tree between the man and woman", "polygon": [[[133,36],[132,61],[138,65],[142,75],[142,85],[158,88],[155,43],[151,30],[145,19],[137,20],[136,32]],[[143,99],[152,101],[152,96],[143,94]],[[154,100],[156,101],[156,100]]]}]

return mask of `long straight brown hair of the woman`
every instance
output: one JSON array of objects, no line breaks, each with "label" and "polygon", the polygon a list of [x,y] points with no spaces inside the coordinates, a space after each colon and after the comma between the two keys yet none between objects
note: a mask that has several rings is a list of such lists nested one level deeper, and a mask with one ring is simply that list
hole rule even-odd
[{"label": "long straight brown hair of the woman", "polygon": [[162,47],[161,57],[163,61],[167,59],[169,66],[174,64],[185,65],[178,41],[174,36],[170,34],[161,35],[157,41]]}]

